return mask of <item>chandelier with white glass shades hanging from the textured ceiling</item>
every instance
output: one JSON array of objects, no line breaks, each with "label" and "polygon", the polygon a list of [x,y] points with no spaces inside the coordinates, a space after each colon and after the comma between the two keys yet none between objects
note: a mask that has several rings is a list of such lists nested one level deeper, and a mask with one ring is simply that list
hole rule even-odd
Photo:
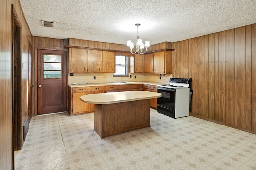
[{"label": "chandelier with white glass shades hanging from the textured ceiling", "polygon": [[[132,43],[131,40],[128,40],[126,41],[127,42],[127,46],[130,48],[130,52],[132,54],[144,54],[147,52],[147,49],[148,47],[150,46],[149,45],[149,41],[145,41],[145,44],[142,43],[142,39],[140,39],[140,36],[139,36],[139,26],[140,26],[140,23],[135,23],[135,26],[137,27],[137,43],[136,43],[136,51],[134,53],[132,53],[132,49],[134,47],[134,43]],[[146,51],[143,53],[142,50],[144,49],[144,47],[146,48]]]}]

